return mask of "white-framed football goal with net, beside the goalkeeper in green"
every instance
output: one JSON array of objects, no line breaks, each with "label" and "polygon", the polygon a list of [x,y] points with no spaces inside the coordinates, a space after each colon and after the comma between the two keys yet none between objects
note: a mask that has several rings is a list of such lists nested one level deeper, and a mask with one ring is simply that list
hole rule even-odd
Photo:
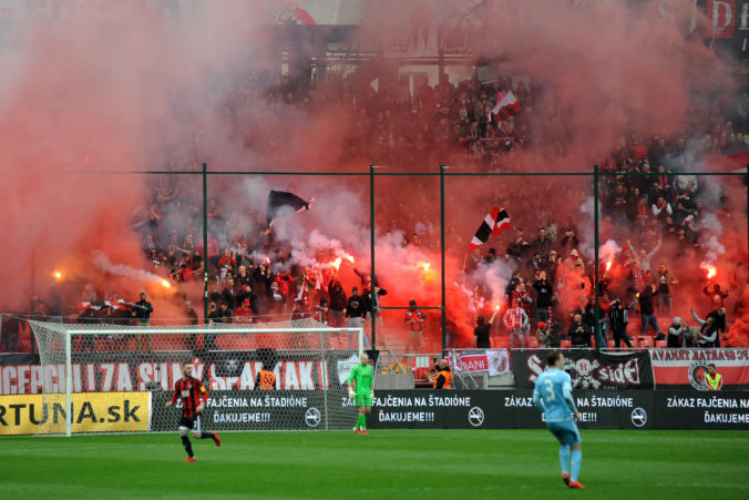
[{"label": "white-framed football goal with net, beside the goalkeeper in green", "polygon": [[[182,401],[165,408],[183,363],[203,381],[202,430],[351,429],[345,381],[363,351],[361,328],[314,319],[257,325],[133,327],[29,322],[40,369],[27,394],[33,433],[175,431]],[[265,367],[276,387],[256,387]],[[37,400],[39,402],[39,400]]]}]

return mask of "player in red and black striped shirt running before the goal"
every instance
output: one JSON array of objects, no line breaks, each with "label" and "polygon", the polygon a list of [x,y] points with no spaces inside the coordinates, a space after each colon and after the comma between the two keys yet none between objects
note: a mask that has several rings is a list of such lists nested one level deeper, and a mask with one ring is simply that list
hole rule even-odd
[{"label": "player in red and black striped shirt running before the goal", "polygon": [[[182,445],[185,447],[185,451],[187,451],[186,462],[197,461],[193,455],[193,445],[189,442],[189,431],[195,427],[195,420],[201,418],[205,402],[208,400],[208,391],[203,387],[203,382],[192,375],[193,365],[183,363],[182,378],[174,384],[174,395],[172,395],[172,399],[166,401],[166,408],[168,408],[177,402],[177,398],[182,398],[179,436],[182,437]],[[211,438],[216,446],[222,446],[222,440],[215,430],[212,432],[195,430],[193,431],[193,437],[195,439]]]}]

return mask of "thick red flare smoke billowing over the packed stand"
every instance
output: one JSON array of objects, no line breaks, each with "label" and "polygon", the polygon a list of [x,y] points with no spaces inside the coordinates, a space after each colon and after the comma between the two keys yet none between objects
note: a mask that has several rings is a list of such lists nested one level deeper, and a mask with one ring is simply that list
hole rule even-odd
[{"label": "thick red flare smoke billowing over the packed stand", "polygon": [[[435,25],[460,18],[455,3],[408,2],[403,10],[403,2],[370,2],[362,25],[349,42],[362,48],[391,44],[407,27],[412,43],[425,47]],[[150,205],[152,187],[163,180],[71,172],[193,171],[204,161],[212,170],[237,172],[365,172],[370,163],[389,165],[384,171],[390,172],[435,172],[440,163],[458,166],[456,172],[485,169],[452,147],[450,133],[450,139],[441,139],[442,132],[433,125],[439,98],[427,91],[419,94],[419,89],[415,92],[422,99],[418,103],[410,102],[410,93],[403,96],[404,85],[392,59],[362,62],[347,79],[330,76],[311,93],[311,104],[269,106],[265,91],[284,85],[279,37],[274,30],[258,28],[269,4],[236,1],[222,2],[220,8],[198,6],[185,8],[171,20],[155,11],[143,16],[137,8],[116,6],[106,12],[71,12],[69,19],[51,23],[30,22],[13,34],[17,52],[1,60],[8,75],[0,101],[0,133],[6,137],[0,159],[0,195],[6,202],[0,206],[3,308],[28,307],[32,253],[37,293],[43,294],[49,274],[59,267],[71,277],[66,303],[74,302],[86,282],[124,298],[134,297],[147,285],[93,268],[93,251],[104,252],[114,264],[164,272],[153,269],[144,259],[141,235],[132,228],[137,218],[133,214]],[[537,142],[531,150],[499,156],[492,170],[589,171],[593,163],[604,164],[625,135],[684,133],[697,94],[730,95],[733,91],[730,65],[716,59],[704,40],[685,29],[689,1],[675,2],[673,23],[653,13],[658,2],[633,7],[633,2],[612,0],[579,8],[566,2],[485,6],[489,8],[478,16],[493,24],[472,31],[470,16],[460,18],[469,22],[469,33],[482,33],[474,53],[501,63],[497,74],[527,75],[543,90],[534,95],[535,102],[523,103],[527,126],[537,131]],[[702,21],[697,19],[698,24]],[[316,50],[312,41],[280,41],[301,52],[300,57],[305,50]],[[376,79],[379,95],[370,86]],[[384,99],[386,94],[392,99]],[[370,125],[379,120],[379,113],[391,112],[398,99],[409,101],[413,112],[393,119],[399,130],[396,146],[386,152],[370,147],[372,134],[388,131],[387,126],[378,131]],[[420,133],[424,141],[432,141],[425,147],[419,145]],[[183,190],[185,211],[191,203],[202,202],[197,177],[166,182]],[[279,222],[277,231],[288,241],[309,246],[310,233],[318,229],[326,241],[337,239],[352,252],[357,267],[366,271],[366,177],[211,176],[209,197],[225,213],[242,214],[223,226],[212,222],[212,237],[230,242],[236,232],[257,234],[261,227],[256,217],[264,215],[268,190],[286,188],[291,182],[316,202],[293,222]],[[728,206],[735,214],[746,213],[746,196],[741,197],[746,192],[732,187]],[[420,305],[440,305],[437,246],[413,249],[384,236],[392,229],[410,236],[414,224],[427,215],[437,239],[438,193],[435,177],[377,178],[376,274],[390,292],[384,305],[406,305],[411,298]],[[591,212],[582,213],[581,206],[589,200],[592,207],[592,195],[589,177],[448,178],[448,316],[462,344],[472,335],[475,314],[469,312],[458,284],[462,283],[468,241],[486,210],[497,204],[512,217],[513,231],[486,245],[496,247],[497,255],[504,254],[515,228],[523,227],[526,237],[534,238],[536,228],[553,215],[560,225],[574,220],[588,249],[583,256],[589,261],[593,218]],[[733,263],[746,262],[746,223],[742,226],[738,215],[721,221],[720,238],[727,254],[715,263],[719,279],[730,275]],[[638,235],[627,232],[619,236],[622,243]],[[314,249],[325,245],[329,243]],[[677,313],[686,316],[688,306],[700,297],[702,283],[695,265],[700,259],[687,256],[676,261],[671,249],[664,245],[656,258],[667,259],[669,267],[683,274],[678,302],[685,310]],[[425,273],[420,262],[429,262],[433,274]],[[505,267],[491,278],[497,299],[513,271]],[[349,273],[347,290],[357,279]],[[193,302],[202,299],[201,285],[186,289]],[[177,315],[179,299],[174,300],[174,309],[167,309],[165,300],[176,292],[164,295],[157,284],[151,290],[163,295],[156,297],[161,302],[156,316]],[[397,337],[401,313],[391,313],[387,319],[392,322],[388,335]],[[430,314],[429,326],[432,335],[437,334],[439,313]]]}]

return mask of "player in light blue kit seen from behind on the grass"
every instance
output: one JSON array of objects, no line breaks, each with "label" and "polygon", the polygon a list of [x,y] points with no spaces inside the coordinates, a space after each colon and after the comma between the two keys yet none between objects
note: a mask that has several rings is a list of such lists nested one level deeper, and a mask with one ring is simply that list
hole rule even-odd
[{"label": "player in light blue kit seen from behind on the grass", "polygon": [[[545,414],[546,428],[560,440],[562,479],[570,488],[584,488],[577,481],[583,461],[583,447],[575,419],[579,412],[572,398],[572,379],[563,370],[564,355],[554,350],[546,357],[546,371],[538,376],[533,389],[533,402]],[[572,475],[570,473],[570,449],[572,448]]]}]

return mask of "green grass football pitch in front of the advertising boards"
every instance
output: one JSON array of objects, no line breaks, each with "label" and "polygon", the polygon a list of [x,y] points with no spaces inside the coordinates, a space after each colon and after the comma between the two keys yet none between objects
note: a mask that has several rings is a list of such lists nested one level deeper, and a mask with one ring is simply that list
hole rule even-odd
[{"label": "green grass football pitch in front of the advertising boards", "polygon": [[545,430],[0,438],[0,498],[749,498],[749,432],[583,430],[585,490]]}]

